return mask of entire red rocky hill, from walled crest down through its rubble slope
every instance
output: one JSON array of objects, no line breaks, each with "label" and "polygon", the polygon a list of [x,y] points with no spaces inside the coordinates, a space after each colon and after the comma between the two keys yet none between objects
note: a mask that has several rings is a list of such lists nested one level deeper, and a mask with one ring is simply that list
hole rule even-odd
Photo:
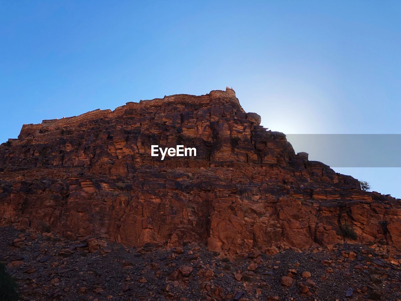
[{"label": "entire red rocky hill, from walled crest down through its rubble slope", "polygon": [[400,299],[400,199],[260,122],[227,87],[22,126],[0,260],[23,299]]}]

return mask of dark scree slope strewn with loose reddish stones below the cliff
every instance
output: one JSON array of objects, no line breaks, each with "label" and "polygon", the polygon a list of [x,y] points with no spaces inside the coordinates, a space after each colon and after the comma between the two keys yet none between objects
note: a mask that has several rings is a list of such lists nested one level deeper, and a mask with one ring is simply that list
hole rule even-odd
[{"label": "dark scree slope strewn with loose reddish stones below the cliff", "polygon": [[201,245],[127,248],[12,226],[0,237],[23,300],[401,300],[401,257],[377,244],[233,258]]}]

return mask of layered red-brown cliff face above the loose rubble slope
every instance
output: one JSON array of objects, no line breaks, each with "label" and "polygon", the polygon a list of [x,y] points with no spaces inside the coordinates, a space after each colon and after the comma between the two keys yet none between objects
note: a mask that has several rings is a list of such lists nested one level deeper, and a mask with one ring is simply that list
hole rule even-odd
[{"label": "layered red-brown cliff face above the loose rubble slope", "polygon": [[[398,199],[361,191],[246,113],[231,89],[44,120],[0,146],[0,226],[241,254],[401,248]],[[151,156],[151,145],[196,157]]]}]

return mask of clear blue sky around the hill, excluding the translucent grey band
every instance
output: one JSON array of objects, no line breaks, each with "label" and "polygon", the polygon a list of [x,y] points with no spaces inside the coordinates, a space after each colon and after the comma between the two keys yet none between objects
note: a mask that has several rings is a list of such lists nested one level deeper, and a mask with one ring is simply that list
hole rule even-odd
[{"label": "clear blue sky around the hill, excluding the translucent grey band", "polygon": [[[400,33],[401,1],[3,0],[0,141],[227,85],[272,130],[400,134]],[[336,171],[401,197],[399,168]]]}]

